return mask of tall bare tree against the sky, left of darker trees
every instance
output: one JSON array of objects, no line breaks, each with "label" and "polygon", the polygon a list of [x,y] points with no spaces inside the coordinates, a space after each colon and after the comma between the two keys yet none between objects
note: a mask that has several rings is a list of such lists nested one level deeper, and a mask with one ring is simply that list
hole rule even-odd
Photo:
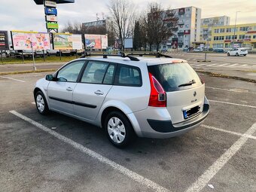
[{"label": "tall bare tree against the sky, left of darker trees", "polygon": [[108,5],[111,17],[113,18],[114,33],[122,40],[122,50],[124,38],[133,35],[133,25],[135,24],[134,7],[133,2],[126,0],[111,0]]}]

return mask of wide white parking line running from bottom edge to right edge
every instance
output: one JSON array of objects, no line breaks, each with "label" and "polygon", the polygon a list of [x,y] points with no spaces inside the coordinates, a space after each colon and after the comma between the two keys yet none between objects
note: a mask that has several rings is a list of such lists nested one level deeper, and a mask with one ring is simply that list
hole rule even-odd
[{"label": "wide white parking line running from bottom edge to right edge", "polygon": [[256,131],[256,123],[254,123],[246,132],[241,136],[215,163],[210,166],[206,172],[201,175],[194,184],[186,190],[186,192],[200,191],[203,187],[208,184],[208,182],[224,167],[224,165],[236,154],[237,151],[242,147],[242,145],[247,142],[248,137],[254,134]]}]

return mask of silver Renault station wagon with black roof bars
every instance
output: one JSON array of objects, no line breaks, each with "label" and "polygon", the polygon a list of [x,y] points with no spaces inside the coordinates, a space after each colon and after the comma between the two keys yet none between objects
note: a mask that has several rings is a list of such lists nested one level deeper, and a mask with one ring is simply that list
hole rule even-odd
[{"label": "silver Renault station wagon with black roof bars", "polygon": [[183,59],[157,54],[86,55],[35,84],[40,114],[56,111],[100,126],[122,148],[134,136],[169,138],[209,113],[205,84]]}]

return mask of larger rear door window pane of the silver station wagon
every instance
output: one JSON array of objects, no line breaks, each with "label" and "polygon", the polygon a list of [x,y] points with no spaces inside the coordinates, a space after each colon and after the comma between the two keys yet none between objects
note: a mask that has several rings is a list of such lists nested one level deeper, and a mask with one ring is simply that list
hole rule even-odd
[{"label": "larger rear door window pane of the silver station wagon", "polygon": [[108,63],[90,61],[84,70],[84,75],[82,76],[82,83],[91,84],[102,84],[103,78],[105,77],[105,72],[108,69]]}]

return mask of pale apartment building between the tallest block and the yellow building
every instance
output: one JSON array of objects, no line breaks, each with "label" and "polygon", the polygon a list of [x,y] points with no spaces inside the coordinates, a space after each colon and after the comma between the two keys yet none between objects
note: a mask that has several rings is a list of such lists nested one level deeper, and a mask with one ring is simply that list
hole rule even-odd
[{"label": "pale apartment building between the tallest block and the yellow building", "polygon": [[230,17],[209,17],[201,19],[200,41],[209,47],[209,41],[212,41],[213,26],[229,26]]}]

